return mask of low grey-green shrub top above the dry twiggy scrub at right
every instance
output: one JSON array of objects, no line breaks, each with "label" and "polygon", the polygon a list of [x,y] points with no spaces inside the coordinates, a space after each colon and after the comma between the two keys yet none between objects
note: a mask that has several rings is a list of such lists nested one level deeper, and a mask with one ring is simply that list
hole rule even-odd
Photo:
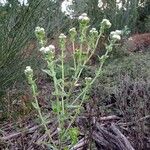
[{"label": "low grey-green shrub top above the dry twiggy scrub at right", "polygon": [[128,57],[118,58],[108,64],[104,71],[104,75],[112,78],[118,75],[128,74],[131,78],[149,78],[149,52],[132,53]]}]

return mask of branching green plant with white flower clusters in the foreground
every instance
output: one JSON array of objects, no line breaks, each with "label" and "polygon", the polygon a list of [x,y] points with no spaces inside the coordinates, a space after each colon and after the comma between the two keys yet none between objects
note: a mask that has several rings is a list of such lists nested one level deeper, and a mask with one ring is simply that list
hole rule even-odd
[{"label": "branching green plant with white flower clusters in the foreground", "polygon": [[[46,33],[44,28],[36,27],[35,34],[38,39],[40,49],[43,54],[43,59],[47,63],[47,68],[42,69],[52,79],[54,90],[53,97],[49,100],[52,107],[52,116],[57,120],[57,136],[54,138],[50,134],[47,126],[48,120],[38,102],[38,88],[36,80],[34,79],[34,71],[31,66],[25,69],[25,75],[31,87],[33,94],[33,107],[37,111],[40,123],[43,125],[48,137],[48,142],[41,144],[47,145],[51,149],[70,150],[78,141],[79,129],[74,125],[77,116],[83,110],[83,103],[89,100],[89,92],[91,87],[95,84],[96,79],[101,75],[103,65],[109,57],[116,41],[120,40],[120,34],[116,31],[111,32],[109,36],[109,43],[106,44],[106,52],[99,57],[99,64],[93,72],[94,77],[82,77],[81,74],[88,62],[95,53],[99,39],[104,36],[107,29],[111,27],[111,23],[107,19],[103,19],[100,24],[100,29],[89,28],[90,19],[87,14],[82,14],[78,18],[79,30],[71,28],[69,30],[69,37],[61,33],[59,36],[60,55],[56,56],[55,46],[47,46]],[[66,60],[66,43],[72,43],[72,62],[69,69],[72,71],[72,76],[67,78],[65,76]],[[76,47],[76,42],[79,41],[79,47]],[[72,64],[72,65],[71,65]],[[57,78],[56,69],[61,70],[61,77]],[[50,118],[49,118],[50,119]],[[57,142],[56,142],[57,141]]]}]

